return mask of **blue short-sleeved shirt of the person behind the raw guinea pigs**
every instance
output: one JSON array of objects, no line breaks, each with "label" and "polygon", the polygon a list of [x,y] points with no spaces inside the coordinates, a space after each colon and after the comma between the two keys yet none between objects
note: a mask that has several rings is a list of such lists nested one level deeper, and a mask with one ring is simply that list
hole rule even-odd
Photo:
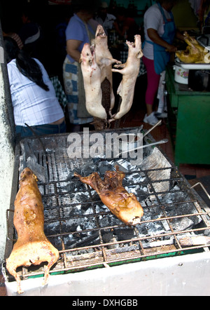
[{"label": "blue short-sleeved shirt of the person behind the raw guinea pigs", "polygon": [[[87,28],[94,34],[92,27],[87,22]],[[73,17],[69,20],[69,25],[66,27],[66,41],[67,40],[78,40],[81,41],[78,50],[81,52],[85,43],[90,43],[89,36],[87,34],[87,29],[85,23],[81,20],[78,15],[74,14]],[[67,55],[71,62],[75,60],[71,58],[70,55]]]}]

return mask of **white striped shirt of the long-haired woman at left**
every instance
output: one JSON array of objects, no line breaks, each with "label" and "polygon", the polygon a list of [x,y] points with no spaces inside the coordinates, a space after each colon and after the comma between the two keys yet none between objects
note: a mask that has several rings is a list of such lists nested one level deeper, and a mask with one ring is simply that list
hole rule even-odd
[{"label": "white striped shirt of the long-haired woman at left", "polygon": [[7,65],[15,125],[18,126],[25,126],[25,123],[29,126],[44,125],[64,117],[47,72],[41,62],[36,62],[41,68],[43,81],[48,85],[49,91],[43,90],[21,74],[15,60],[11,60]]}]

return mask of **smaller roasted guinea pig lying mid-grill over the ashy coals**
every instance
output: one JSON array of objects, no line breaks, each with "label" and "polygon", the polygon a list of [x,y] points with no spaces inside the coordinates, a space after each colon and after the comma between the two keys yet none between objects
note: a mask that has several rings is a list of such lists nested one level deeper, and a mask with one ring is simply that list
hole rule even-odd
[{"label": "smaller roasted guinea pig lying mid-grill over the ashy coals", "polygon": [[92,173],[88,177],[82,177],[77,173],[74,175],[97,191],[104,205],[119,220],[129,225],[139,224],[144,214],[143,208],[137,201],[137,197],[132,193],[129,194],[123,187],[125,173],[120,171],[118,166],[116,166],[116,171],[106,171],[104,180],[99,177],[98,173]]}]

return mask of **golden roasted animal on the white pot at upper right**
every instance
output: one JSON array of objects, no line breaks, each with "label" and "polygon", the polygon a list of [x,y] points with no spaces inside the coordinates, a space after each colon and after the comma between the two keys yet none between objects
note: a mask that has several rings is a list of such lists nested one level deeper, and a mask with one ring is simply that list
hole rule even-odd
[{"label": "golden roasted animal on the white pot at upper right", "polygon": [[188,44],[186,50],[177,50],[176,56],[185,63],[203,63],[206,55],[202,47],[192,36],[184,32],[184,38]]}]

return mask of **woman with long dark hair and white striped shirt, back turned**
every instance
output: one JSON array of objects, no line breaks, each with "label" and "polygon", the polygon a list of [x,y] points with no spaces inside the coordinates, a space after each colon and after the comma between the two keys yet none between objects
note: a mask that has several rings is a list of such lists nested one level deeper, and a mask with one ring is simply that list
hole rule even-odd
[{"label": "woman with long dark hair and white striped shirt, back turned", "polygon": [[12,38],[3,41],[16,133],[21,137],[65,133],[64,112],[41,62],[20,50]]}]

